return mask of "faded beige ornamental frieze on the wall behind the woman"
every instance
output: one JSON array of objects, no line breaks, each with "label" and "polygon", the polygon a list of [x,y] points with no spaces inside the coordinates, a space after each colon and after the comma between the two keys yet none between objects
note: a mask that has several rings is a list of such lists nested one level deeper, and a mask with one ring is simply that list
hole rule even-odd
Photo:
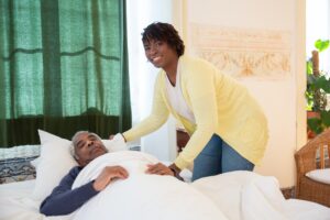
[{"label": "faded beige ornamental frieze on the wall behind the woman", "polygon": [[193,53],[239,79],[280,80],[290,75],[287,31],[190,24]]}]

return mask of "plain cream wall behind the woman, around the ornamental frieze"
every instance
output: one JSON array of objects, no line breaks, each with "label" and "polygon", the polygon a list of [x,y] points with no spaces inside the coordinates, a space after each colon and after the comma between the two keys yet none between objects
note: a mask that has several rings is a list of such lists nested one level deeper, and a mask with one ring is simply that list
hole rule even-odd
[{"label": "plain cream wall behind the woman, around the ornamental frieze", "polygon": [[[175,25],[188,53],[196,53],[193,24],[219,30],[288,33],[289,66],[283,77],[240,78],[264,109],[270,141],[256,172],[276,176],[282,187],[295,185],[294,153],[306,140],[305,112],[305,1],[301,0],[183,0],[174,11]],[[176,14],[175,12],[174,14]]]}]

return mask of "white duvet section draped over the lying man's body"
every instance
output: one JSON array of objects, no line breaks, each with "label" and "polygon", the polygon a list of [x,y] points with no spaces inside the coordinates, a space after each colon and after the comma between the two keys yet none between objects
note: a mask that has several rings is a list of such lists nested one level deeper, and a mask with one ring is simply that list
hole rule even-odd
[{"label": "white duvet section draped over the lying man's body", "polygon": [[121,165],[130,176],[117,180],[90,199],[74,219],[116,220],[226,220],[220,209],[193,186],[172,176],[145,174],[146,165],[158,162],[140,152],[102,155],[85,167],[73,188],[95,179],[105,166]]}]

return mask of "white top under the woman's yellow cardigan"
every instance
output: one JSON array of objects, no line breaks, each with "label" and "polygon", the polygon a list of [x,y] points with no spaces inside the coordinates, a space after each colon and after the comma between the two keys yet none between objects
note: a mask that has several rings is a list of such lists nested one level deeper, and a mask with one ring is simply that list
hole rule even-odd
[{"label": "white top under the woman's yellow cardigan", "polygon": [[[178,68],[179,69],[179,68]],[[170,103],[172,108],[182,117],[188,119],[190,122],[195,123],[195,116],[193,111],[189,109],[187,101],[184,98],[182,86],[180,86],[180,73],[177,70],[176,74],[176,82],[173,86],[166,76],[166,90],[167,90],[167,99]]]}]

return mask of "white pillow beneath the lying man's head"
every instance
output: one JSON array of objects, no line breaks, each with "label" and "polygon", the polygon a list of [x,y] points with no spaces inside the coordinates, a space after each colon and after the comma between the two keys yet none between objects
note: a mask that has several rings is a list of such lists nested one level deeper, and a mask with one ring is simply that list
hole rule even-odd
[{"label": "white pillow beneath the lying man's head", "polygon": [[[77,162],[70,154],[72,142],[38,130],[41,155],[36,163],[36,180],[32,197],[44,200],[59,184],[61,179]],[[124,139],[117,134],[113,140],[102,140],[109,152],[128,150]]]}]

